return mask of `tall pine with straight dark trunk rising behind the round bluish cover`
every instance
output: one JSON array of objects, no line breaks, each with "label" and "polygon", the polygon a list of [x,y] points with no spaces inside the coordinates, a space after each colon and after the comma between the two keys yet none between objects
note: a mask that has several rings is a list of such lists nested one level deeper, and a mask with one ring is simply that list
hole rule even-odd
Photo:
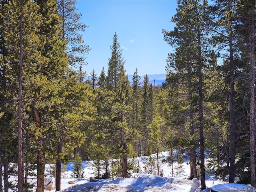
[{"label": "tall pine with straight dark trunk rising behind the round bluish cover", "polygon": [[[234,52],[234,48],[237,38],[235,34],[234,23],[238,20],[236,9],[237,0],[228,1],[215,1],[214,9],[217,22],[214,26],[215,44],[219,49],[223,50],[224,57],[229,61],[228,66],[224,66],[229,69],[230,76],[230,163],[229,163],[229,182],[234,183],[235,177],[235,59],[237,53]],[[226,55],[226,48],[228,46],[229,54]],[[226,62],[224,62],[226,63]]]}]

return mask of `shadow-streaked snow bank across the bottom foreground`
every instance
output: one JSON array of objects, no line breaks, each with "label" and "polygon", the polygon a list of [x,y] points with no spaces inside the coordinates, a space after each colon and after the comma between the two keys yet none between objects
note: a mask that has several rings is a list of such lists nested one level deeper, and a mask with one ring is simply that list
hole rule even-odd
[{"label": "shadow-streaked snow bank across the bottom foreground", "polygon": [[[161,177],[150,174],[133,174],[132,178],[118,178],[114,181],[109,179],[99,179],[97,182],[90,182],[85,179],[62,179],[62,192],[194,192],[190,191],[192,181],[186,178]],[[74,181],[75,184],[68,184],[68,181]],[[214,184],[222,184],[217,181],[206,181],[208,187]],[[54,192],[55,190],[50,190]]]}]

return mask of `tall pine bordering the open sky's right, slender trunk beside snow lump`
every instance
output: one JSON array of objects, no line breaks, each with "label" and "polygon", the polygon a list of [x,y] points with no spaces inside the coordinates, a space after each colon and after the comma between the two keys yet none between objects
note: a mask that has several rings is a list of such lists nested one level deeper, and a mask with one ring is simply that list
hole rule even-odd
[{"label": "tall pine bordering the open sky's right, slender trunk beside snow lump", "polygon": [[[208,48],[208,36],[210,26],[210,15],[206,10],[209,6],[206,1],[178,1],[177,14],[172,18],[176,23],[174,31],[164,30],[164,38],[169,44],[177,44],[178,50],[181,48],[190,49],[190,52],[184,55],[186,64],[195,72],[195,79],[198,91],[198,117],[197,126],[199,128],[200,139],[200,168],[202,189],[205,189],[205,170],[204,170],[204,116],[203,116],[203,78],[202,71],[206,67]],[[188,19],[190,18],[190,19]],[[182,58],[182,54],[176,54],[176,58]],[[174,62],[176,63],[176,62]],[[191,64],[191,65],[190,65]],[[178,68],[179,69],[179,68]],[[182,68],[180,68],[182,70]],[[186,72],[186,71],[185,71]],[[190,70],[188,70],[190,72]],[[192,79],[191,79],[192,80]]]}]

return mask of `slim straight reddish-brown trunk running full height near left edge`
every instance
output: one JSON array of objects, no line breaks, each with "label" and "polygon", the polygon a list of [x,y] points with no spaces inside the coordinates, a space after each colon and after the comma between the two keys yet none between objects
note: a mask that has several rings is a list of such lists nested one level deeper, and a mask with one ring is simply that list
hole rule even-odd
[{"label": "slim straight reddish-brown trunk running full height near left edge", "polygon": [[19,96],[18,96],[18,192],[22,192],[22,35],[23,35],[23,0],[20,0],[20,64],[19,64]]}]

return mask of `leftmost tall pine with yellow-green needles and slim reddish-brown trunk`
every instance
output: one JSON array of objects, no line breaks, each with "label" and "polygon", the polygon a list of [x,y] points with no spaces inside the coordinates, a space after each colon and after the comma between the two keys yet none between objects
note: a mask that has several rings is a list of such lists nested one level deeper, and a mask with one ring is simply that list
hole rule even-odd
[{"label": "leftmost tall pine with yellow-green needles and slim reddish-brown trunk", "polygon": [[[27,95],[28,90],[24,89],[26,87],[26,83],[28,82],[28,72],[33,70],[32,66],[34,62],[40,62],[40,53],[36,49],[37,47],[41,47],[43,42],[40,40],[38,36],[36,36],[36,32],[38,26],[41,24],[41,15],[38,14],[38,7],[33,1],[8,1],[1,2],[1,46],[4,49],[1,49],[1,54],[3,54],[4,62],[1,63],[3,66],[1,67],[1,73],[4,73],[4,78],[1,82],[3,82],[5,89],[5,105],[6,104],[15,104],[14,100],[6,100],[11,99],[10,96],[16,98],[15,94],[19,93],[19,122],[18,124],[18,190],[22,189],[22,182],[24,182],[21,166],[21,137],[22,137],[22,123],[26,123],[28,116],[25,114],[26,107],[31,104],[31,101],[28,99],[24,99],[22,95]],[[4,19],[2,19],[4,18]],[[3,44],[2,44],[3,43]],[[17,53],[20,53],[18,55]],[[19,61],[19,62],[18,62]],[[19,63],[19,66],[17,65]],[[19,75],[18,75],[19,74]],[[12,76],[12,78],[10,78]],[[18,77],[18,79],[14,79],[14,77]],[[19,82],[17,85],[14,82]],[[6,83],[10,83],[10,87],[6,88]],[[8,92],[13,92],[13,94],[8,94]],[[22,92],[21,92],[22,91]],[[22,93],[22,94],[21,94]],[[12,99],[13,99],[12,98]],[[25,101],[26,100],[26,101]],[[12,104],[11,104],[12,105]],[[25,106],[21,109],[21,106]],[[6,111],[7,112],[7,111]],[[8,113],[7,113],[8,114]],[[12,114],[15,116],[16,112],[12,111]],[[26,118],[25,118],[26,117]],[[22,122],[23,121],[23,122]],[[1,119],[2,122],[2,119]],[[12,122],[12,121],[10,121]],[[25,130],[25,129],[24,129]],[[1,128],[2,132],[2,128]],[[2,142],[2,140],[1,140]],[[6,146],[7,147],[7,146]],[[9,148],[11,149],[11,148]],[[8,149],[6,148],[5,154],[7,155]],[[6,156],[6,159],[8,157]],[[4,179],[7,182],[7,171],[6,166],[4,166]],[[27,172],[26,172],[27,173]],[[27,174],[25,176],[27,178]],[[27,180],[25,180],[27,182]],[[8,184],[5,190],[8,190]],[[25,189],[24,189],[25,190]]]}]

